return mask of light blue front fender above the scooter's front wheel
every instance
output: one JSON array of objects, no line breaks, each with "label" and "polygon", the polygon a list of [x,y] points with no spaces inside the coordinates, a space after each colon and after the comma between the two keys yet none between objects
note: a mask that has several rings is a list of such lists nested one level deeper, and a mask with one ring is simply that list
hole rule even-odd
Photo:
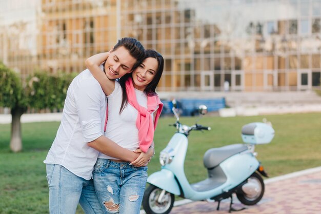
[{"label": "light blue front fender above the scooter's front wheel", "polygon": [[168,169],[162,169],[160,171],[152,173],[147,178],[147,183],[157,186],[160,189],[164,189],[170,193],[180,195],[179,186],[175,180],[173,172]]}]

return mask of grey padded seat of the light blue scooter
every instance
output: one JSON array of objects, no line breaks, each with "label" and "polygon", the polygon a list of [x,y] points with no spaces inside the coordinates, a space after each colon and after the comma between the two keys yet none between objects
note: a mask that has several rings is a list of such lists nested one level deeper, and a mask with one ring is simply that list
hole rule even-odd
[{"label": "grey padded seat of the light blue scooter", "polygon": [[232,144],[219,148],[211,148],[204,154],[204,166],[207,169],[212,169],[232,155],[245,151],[247,149],[248,147],[245,144]]}]

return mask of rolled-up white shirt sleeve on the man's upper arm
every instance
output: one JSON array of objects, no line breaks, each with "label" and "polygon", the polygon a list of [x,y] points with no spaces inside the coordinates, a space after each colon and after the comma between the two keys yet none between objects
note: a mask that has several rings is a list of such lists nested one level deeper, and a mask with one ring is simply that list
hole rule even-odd
[{"label": "rolled-up white shirt sleeve on the man's upper arm", "polygon": [[101,126],[101,91],[102,88],[99,83],[95,79],[89,78],[82,80],[73,92],[79,123],[86,143],[103,135]]}]

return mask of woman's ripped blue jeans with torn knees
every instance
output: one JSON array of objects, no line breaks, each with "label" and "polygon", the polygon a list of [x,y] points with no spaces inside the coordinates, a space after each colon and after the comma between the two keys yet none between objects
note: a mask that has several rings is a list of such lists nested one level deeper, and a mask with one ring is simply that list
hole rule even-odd
[{"label": "woman's ripped blue jeans with torn knees", "polygon": [[98,200],[106,213],[139,213],[147,181],[147,166],[134,167],[128,162],[98,158],[93,178]]}]

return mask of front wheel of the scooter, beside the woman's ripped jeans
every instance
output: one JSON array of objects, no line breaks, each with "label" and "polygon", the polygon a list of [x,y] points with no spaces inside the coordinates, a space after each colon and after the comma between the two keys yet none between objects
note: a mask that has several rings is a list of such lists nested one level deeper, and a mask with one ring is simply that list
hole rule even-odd
[{"label": "front wheel of the scooter, beside the woman's ripped jeans", "polygon": [[174,194],[149,185],[143,197],[143,207],[147,214],[168,214],[174,205]]}]

